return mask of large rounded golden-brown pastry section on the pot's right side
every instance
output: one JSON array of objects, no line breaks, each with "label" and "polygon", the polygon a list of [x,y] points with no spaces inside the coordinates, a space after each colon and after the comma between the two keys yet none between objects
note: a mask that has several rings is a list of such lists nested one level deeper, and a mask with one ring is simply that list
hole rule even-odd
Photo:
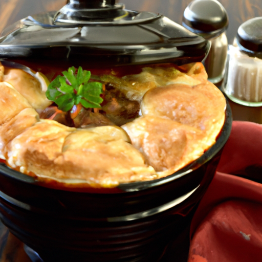
[{"label": "large rounded golden-brown pastry section on the pot's right side", "polygon": [[[191,74],[197,75],[196,70]],[[208,81],[169,84],[147,91],[141,103],[143,117],[122,128],[163,177],[199,158],[215,142],[225,108],[223,94]]]}]

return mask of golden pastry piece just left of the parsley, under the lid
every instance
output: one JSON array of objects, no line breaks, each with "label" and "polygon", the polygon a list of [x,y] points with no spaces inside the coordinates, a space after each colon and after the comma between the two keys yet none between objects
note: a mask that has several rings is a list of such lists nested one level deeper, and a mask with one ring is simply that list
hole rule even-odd
[{"label": "golden pastry piece just left of the parsley, under the lid", "polygon": [[38,79],[21,69],[5,68],[3,80],[24,96],[35,110],[41,111],[52,101],[46,97],[46,80],[39,73],[35,75]]}]

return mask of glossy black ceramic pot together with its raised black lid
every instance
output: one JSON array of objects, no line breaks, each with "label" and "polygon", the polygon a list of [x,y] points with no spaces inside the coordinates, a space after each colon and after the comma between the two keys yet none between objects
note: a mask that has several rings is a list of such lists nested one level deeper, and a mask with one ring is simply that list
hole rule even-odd
[{"label": "glossy black ceramic pot together with its raised black lid", "polygon": [[[70,0],[58,12],[18,21],[0,37],[3,64],[34,70],[182,65],[202,61],[209,48],[209,41],[167,17],[126,10],[114,0]],[[1,220],[45,262],[160,261],[166,250],[186,259],[192,215],[214,176],[231,121],[227,106],[216,143],[181,170],[111,189],[52,187],[2,163]]]}]

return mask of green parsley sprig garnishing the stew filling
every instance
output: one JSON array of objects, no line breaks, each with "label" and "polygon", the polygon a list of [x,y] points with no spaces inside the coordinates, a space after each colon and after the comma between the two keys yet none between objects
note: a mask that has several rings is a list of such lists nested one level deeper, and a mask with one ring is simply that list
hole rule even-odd
[{"label": "green parsley sprig garnishing the stew filling", "polygon": [[46,96],[64,112],[79,103],[86,108],[101,108],[103,88],[100,82],[89,82],[91,72],[74,67],[62,72],[48,86]]}]

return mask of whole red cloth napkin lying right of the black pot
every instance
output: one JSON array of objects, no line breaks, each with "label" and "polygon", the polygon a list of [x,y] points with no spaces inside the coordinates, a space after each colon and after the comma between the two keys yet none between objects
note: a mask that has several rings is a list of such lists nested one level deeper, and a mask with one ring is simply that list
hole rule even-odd
[{"label": "whole red cloth napkin lying right of the black pot", "polygon": [[262,261],[262,184],[232,175],[262,180],[261,166],[262,125],[234,121],[191,224],[188,262]]}]

